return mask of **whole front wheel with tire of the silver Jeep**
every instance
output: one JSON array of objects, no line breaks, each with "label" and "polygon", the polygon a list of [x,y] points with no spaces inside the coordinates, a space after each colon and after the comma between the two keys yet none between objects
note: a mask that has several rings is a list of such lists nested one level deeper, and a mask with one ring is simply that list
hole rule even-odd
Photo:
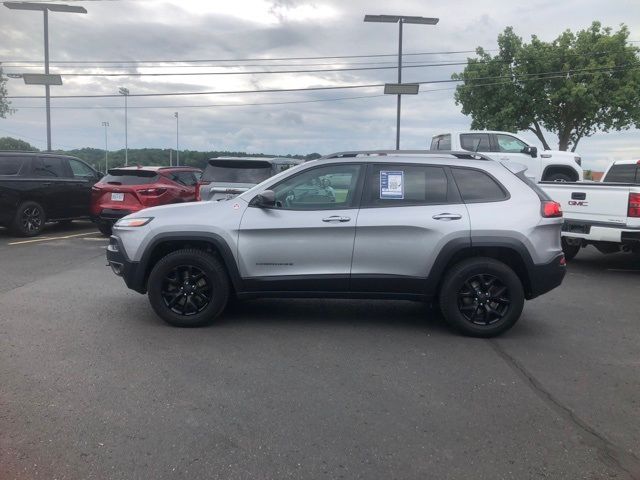
[{"label": "whole front wheel with tire of the silver Jeep", "polygon": [[201,327],[224,310],[229,279],[220,261],[197,249],[178,250],[153,267],[147,284],[149,302],[175,327]]}]

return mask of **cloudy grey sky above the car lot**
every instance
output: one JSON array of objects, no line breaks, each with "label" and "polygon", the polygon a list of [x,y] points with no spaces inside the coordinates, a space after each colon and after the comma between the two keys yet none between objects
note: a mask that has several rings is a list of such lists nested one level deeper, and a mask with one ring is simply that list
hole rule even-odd
[{"label": "cloudy grey sky above the car lot", "polygon": [[[64,85],[52,87],[52,95],[114,95],[123,86],[134,95],[395,82],[394,68],[322,71],[394,67],[397,25],[364,23],[365,13],[440,18],[437,26],[405,26],[404,52],[428,53],[405,57],[407,65],[464,61],[469,54],[433,52],[477,46],[493,49],[497,35],[509,25],[527,40],[532,34],[551,40],[564,29],[581,29],[600,20],[614,28],[625,23],[631,28],[631,40],[640,40],[637,0],[606,4],[601,0],[93,0],[73,4],[84,6],[88,14],[50,14],[50,58],[57,62],[52,63],[52,73],[227,74],[63,75]],[[326,58],[331,56],[336,58]],[[278,60],[282,58],[289,60]],[[5,73],[41,72],[42,59],[42,14],[0,7],[0,61]],[[159,63],[163,60],[198,62]],[[135,63],[142,61],[149,63]],[[461,68],[406,68],[403,81],[448,79]],[[320,71],[228,74],[274,70]],[[43,87],[26,86],[20,79],[10,79],[7,86],[10,96],[43,94]],[[470,119],[453,101],[453,88],[454,84],[446,83],[422,85],[419,95],[404,97],[402,148],[426,148],[436,133],[469,128]],[[12,103],[17,111],[0,119],[0,136],[45,147],[44,100],[14,99]],[[110,124],[109,148],[124,147],[122,97],[59,98],[52,100],[52,107],[53,148],[104,148],[104,121]],[[180,116],[181,149],[329,153],[393,148],[395,142],[395,97],[382,95],[380,87],[131,96],[129,107],[132,148],[175,147],[174,112]],[[529,134],[523,136],[535,141]],[[556,144],[552,135],[548,140]],[[614,158],[640,158],[640,131],[600,133],[582,140],[578,151],[586,168],[594,169]]]}]

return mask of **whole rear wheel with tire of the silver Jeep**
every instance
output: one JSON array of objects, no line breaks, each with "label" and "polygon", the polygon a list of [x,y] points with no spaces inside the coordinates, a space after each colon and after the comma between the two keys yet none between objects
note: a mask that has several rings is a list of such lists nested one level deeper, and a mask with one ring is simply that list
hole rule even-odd
[{"label": "whole rear wheel with tire of the silver Jeep", "polygon": [[464,335],[494,337],[520,318],[524,289],[516,273],[492,258],[470,258],[451,267],[440,289],[447,323]]}]

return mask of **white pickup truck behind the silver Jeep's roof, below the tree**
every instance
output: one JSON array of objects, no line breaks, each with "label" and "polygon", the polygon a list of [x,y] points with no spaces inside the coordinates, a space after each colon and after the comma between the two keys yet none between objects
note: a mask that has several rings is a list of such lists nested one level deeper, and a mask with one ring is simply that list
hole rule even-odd
[{"label": "white pickup truck behind the silver Jeep's roof, below the tree", "polygon": [[581,158],[575,153],[538,150],[509,132],[466,131],[435,135],[431,150],[481,152],[499,162],[520,163],[534,182],[577,182],[582,180]]}]

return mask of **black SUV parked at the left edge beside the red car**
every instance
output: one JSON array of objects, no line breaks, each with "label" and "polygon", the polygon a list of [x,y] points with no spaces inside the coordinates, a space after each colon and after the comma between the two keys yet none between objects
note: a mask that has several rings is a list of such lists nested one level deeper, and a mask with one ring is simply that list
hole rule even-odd
[{"label": "black SUV parked at the left edge beside the red car", "polygon": [[74,157],[0,152],[0,225],[32,237],[45,222],[88,218],[91,187],[100,178]]}]

